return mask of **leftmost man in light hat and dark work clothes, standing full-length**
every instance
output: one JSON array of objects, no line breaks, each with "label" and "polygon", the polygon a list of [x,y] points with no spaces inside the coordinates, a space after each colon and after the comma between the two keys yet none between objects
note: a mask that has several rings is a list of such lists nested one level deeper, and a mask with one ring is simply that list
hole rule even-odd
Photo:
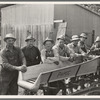
[{"label": "leftmost man in light hat and dark work clothes, standing full-length", "polygon": [[26,72],[26,60],[19,47],[14,46],[16,38],[8,33],[4,41],[6,47],[1,51],[2,69],[0,95],[18,94],[18,71]]}]

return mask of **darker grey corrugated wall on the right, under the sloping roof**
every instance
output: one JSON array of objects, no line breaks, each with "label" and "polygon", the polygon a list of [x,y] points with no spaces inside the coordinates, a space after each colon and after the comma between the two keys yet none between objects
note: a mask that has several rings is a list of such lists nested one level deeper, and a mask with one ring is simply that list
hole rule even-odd
[{"label": "darker grey corrugated wall on the right, under the sloping roof", "polygon": [[[100,35],[100,16],[88,11],[78,5],[59,4],[54,6],[54,19],[68,22],[67,34],[81,34],[81,32]],[[88,38],[88,42],[90,42]]]}]

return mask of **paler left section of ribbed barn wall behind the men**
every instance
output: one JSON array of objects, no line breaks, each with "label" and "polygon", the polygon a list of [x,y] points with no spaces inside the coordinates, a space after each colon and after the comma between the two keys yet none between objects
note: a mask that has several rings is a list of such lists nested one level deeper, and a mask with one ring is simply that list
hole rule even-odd
[{"label": "paler left section of ribbed barn wall behind the men", "polygon": [[[12,32],[17,38],[16,45],[22,47],[29,31],[37,39],[36,45],[41,49],[43,40],[52,31],[53,19],[54,5],[51,4],[13,5],[2,8],[2,37]],[[4,45],[2,41],[2,47]]]}]

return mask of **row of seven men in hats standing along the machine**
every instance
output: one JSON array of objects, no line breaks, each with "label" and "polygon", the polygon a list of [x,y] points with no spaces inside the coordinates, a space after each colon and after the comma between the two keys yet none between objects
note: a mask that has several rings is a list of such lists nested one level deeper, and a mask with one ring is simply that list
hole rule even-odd
[{"label": "row of seven men in hats standing along the machine", "polygon": [[[11,33],[7,34],[4,38],[6,47],[1,50],[0,55],[2,60],[2,66],[0,68],[0,95],[18,95],[18,71],[25,73],[28,66],[40,63],[54,63],[58,65],[60,62],[66,61],[79,63],[83,61],[84,57],[88,56],[89,51],[99,51],[99,36],[90,50],[88,50],[85,45],[86,39],[87,35],[85,33],[82,33],[80,37],[73,35],[71,42],[66,45],[64,35],[57,38],[57,44],[54,44],[54,41],[47,37],[43,42],[44,49],[40,52],[39,49],[34,46],[36,39],[31,35],[25,40],[27,45],[20,49],[14,46],[16,38]],[[75,80],[75,77],[70,79],[71,82]],[[64,80],[51,82],[48,86],[56,87],[57,89],[49,89],[48,91],[44,91],[44,94],[55,95],[60,89],[62,89],[63,95],[66,94],[66,84]],[[83,86],[83,84],[81,84],[81,86]]]}]

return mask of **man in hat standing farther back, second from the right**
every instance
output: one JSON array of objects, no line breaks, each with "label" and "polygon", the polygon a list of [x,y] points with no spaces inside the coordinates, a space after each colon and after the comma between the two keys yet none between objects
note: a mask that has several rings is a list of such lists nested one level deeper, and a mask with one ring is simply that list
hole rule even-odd
[{"label": "man in hat standing farther back, second from the right", "polygon": [[85,40],[87,39],[87,35],[85,33],[82,33],[80,35],[80,41],[78,42],[78,46],[85,52],[87,53],[87,46],[85,44]]}]

